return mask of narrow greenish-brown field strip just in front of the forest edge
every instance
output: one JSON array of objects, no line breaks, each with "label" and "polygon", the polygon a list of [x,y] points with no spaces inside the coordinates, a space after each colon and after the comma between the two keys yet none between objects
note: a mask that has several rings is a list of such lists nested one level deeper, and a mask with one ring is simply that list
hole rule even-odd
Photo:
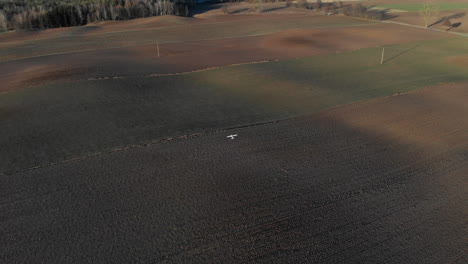
[{"label": "narrow greenish-brown field strip just in front of the forest edge", "polygon": [[[8,40],[0,42],[0,61],[37,57],[57,53],[73,53],[86,50],[102,50],[141,46],[159,43],[200,41],[265,35],[296,28],[341,27],[366,25],[373,22],[348,17],[327,16],[286,16],[250,17],[249,19],[228,19],[208,23],[187,23],[184,25],[157,27],[155,29],[125,29],[101,34],[67,34],[29,41]],[[72,30],[72,29],[70,29]]]}]

